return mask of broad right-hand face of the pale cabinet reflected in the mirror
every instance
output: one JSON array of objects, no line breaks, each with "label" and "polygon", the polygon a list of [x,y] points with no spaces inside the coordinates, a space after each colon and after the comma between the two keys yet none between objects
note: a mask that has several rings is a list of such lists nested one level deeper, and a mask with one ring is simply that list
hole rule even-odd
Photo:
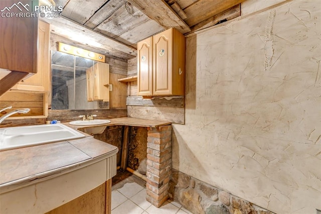
[{"label": "broad right-hand face of the pale cabinet reflected in the mirror", "polygon": [[94,65],[93,84],[94,100],[109,101],[109,64]]}]

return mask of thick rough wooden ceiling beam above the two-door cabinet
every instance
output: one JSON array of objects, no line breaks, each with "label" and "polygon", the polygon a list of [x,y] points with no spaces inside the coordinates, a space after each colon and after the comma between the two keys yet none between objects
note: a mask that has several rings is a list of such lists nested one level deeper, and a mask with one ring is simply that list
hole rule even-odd
[{"label": "thick rough wooden ceiling beam above the two-door cabinet", "polygon": [[191,31],[164,0],[128,0],[128,2],[165,29],[176,28],[183,34]]}]

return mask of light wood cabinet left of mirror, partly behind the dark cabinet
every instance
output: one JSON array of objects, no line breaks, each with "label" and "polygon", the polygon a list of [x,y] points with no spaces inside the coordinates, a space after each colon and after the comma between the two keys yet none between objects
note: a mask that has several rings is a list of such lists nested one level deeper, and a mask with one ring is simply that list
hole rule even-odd
[{"label": "light wood cabinet left of mirror, partly behind the dark cabinet", "polygon": [[49,91],[50,85],[50,25],[39,21],[38,72],[20,81],[12,89]]}]

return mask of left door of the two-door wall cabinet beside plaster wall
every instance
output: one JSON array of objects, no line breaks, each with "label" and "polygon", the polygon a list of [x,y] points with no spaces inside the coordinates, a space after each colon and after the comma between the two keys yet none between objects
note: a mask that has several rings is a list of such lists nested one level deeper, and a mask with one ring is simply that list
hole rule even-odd
[{"label": "left door of the two-door wall cabinet beside plaster wall", "polygon": [[138,95],[152,95],[152,37],[137,43]]}]

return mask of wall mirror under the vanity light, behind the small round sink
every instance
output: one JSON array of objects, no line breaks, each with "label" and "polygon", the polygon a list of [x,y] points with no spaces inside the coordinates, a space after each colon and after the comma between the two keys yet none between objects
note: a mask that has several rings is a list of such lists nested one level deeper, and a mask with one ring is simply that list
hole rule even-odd
[{"label": "wall mirror under the vanity light, behind the small round sink", "polygon": [[[88,94],[88,90],[89,93],[94,91],[92,87],[95,87],[95,83],[92,82],[94,78],[90,78],[88,74],[93,73],[93,70],[97,67],[100,68],[100,74],[103,73],[104,78],[108,79],[108,83],[102,85],[103,91],[100,91],[101,94],[105,94],[105,97],[107,95],[108,98],[92,101],[92,96]],[[109,109],[108,64],[59,51],[52,51],[51,73],[52,110]],[[96,75],[96,73],[94,74]]]}]

